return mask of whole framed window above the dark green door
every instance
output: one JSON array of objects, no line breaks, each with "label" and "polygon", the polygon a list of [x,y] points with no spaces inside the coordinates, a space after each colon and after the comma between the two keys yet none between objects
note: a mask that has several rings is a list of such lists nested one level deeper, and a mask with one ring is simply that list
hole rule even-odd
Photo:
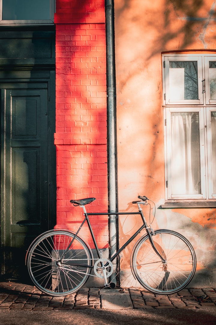
[{"label": "whole framed window above the dark green door", "polygon": [[53,24],[55,0],[0,0],[0,24]]}]

